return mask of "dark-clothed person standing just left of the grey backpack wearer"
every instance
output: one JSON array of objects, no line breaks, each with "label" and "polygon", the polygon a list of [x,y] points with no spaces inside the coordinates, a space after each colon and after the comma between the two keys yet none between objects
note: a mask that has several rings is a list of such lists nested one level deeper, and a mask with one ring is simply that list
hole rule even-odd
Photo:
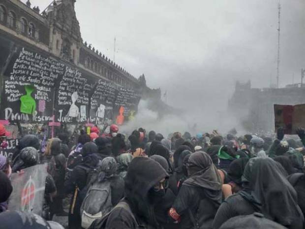
[{"label": "dark-clothed person standing just left of the grey backpack wearer", "polygon": [[95,153],[97,153],[96,144],[87,142],[81,150],[82,162],[72,170],[71,175],[64,182],[65,193],[72,194],[68,216],[69,229],[81,228],[80,208],[86,195],[83,189],[87,185],[88,175],[99,162]]}]

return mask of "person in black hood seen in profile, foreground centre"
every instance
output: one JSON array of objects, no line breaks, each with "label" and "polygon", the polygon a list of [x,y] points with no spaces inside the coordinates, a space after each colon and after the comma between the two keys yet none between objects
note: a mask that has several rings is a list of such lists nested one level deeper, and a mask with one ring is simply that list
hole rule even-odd
[{"label": "person in black hood seen in profile, foreground centre", "polygon": [[[154,206],[165,195],[163,185],[167,177],[162,166],[152,159],[133,159],[125,177],[125,198],[110,213],[105,228],[159,228]],[[100,220],[94,221],[90,229],[100,229],[99,223]]]}]

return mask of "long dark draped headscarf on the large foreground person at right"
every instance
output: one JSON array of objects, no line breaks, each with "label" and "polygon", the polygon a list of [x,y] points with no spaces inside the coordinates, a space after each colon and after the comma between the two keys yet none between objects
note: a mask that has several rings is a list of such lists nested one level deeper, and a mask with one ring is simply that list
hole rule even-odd
[{"label": "long dark draped headscarf on the large foreground person at right", "polygon": [[243,180],[248,182],[250,195],[242,192],[242,196],[259,203],[266,218],[289,227],[304,216],[298,206],[297,193],[286,176],[283,167],[271,158],[251,159],[243,176]]}]

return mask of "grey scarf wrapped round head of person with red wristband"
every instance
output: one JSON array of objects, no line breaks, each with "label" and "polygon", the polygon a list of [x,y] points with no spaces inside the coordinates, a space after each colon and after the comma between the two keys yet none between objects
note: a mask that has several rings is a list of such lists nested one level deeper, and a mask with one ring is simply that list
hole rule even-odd
[{"label": "grey scarf wrapped round head of person with red wristband", "polygon": [[183,185],[203,188],[207,197],[220,204],[221,178],[211,157],[205,152],[191,154],[188,159],[187,171],[189,177]]}]

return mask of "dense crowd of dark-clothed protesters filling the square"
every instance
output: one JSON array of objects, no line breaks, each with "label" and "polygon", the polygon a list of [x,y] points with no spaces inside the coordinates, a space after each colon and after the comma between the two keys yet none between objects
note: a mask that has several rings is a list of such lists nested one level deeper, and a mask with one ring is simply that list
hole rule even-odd
[{"label": "dense crowd of dark-clothed protesters filling the square", "polygon": [[[297,133],[125,135],[112,125],[75,143],[60,133],[43,153],[29,134],[11,161],[0,156],[0,229],[63,229],[54,216],[68,217],[68,229],[304,229],[305,131]],[[7,210],[11,173],[43,163],[43,214]]]}]

